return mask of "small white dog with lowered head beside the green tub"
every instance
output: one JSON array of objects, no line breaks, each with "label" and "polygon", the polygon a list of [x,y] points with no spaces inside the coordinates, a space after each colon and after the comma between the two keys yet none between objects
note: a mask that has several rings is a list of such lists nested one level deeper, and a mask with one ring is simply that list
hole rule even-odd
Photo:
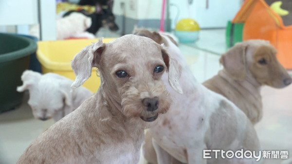
[{"label": "small white dog with lowered head beside the green tub", "polygon": [[73,80],[55,73],[42,75],[26,70],[22,73],[21,80],[23,84],[17,87],[17,91],[29,90],[28,104],[35,118],[40,120],[53,117],[57,122],[92,95],[92,92],[85,87],[79,87],[71,92]]}]

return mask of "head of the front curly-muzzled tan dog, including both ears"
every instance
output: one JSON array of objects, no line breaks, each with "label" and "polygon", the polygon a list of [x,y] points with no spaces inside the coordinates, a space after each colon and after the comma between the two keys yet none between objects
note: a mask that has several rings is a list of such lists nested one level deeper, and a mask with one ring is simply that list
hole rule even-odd
[{"label": "head of the front curly-muzzled tan dog, including both ears", "polygon": [[[149,38],[130,34],[108,44],[100,40],[82,49],[72,62],[76,74],[73,87],[80,86],[90,75],[91,66],[80,70],[80,66],[85,65],[81,56],[93,58],[90,65],[100,71],[105,97],[109,103],[120,105],[121,112],[127,117],[140,117],[151,122],[168,110],[171,98],[161,81],[165,71],[170,85],[182,92],[178,83],[181,66]],[[87,72],[86,76],[84,72]]]}]

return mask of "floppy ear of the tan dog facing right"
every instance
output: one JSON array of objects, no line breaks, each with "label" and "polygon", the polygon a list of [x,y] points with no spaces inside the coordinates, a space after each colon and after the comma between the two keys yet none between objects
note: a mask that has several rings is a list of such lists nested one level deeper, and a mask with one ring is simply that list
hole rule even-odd
[{"label": "floppy ear of the tan dog facing right", "polygon": [[234,47],[222,54],[219,59],[220,64],[232,76],[234,80],[243,81],[246,77],[245,70],[246,45],[237,43]]}]

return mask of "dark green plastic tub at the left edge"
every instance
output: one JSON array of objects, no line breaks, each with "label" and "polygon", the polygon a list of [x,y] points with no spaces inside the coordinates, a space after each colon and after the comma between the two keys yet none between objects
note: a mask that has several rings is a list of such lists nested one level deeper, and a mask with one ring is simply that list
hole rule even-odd
[{"label": "dark green plastic tub at the left edge", "polygon": [[14,34],[0,33],[0,113],[14,109],[23,98],[16,91],[22,85],[22,72],[28,69],[30,55],[37,50],[36,41]]}]

